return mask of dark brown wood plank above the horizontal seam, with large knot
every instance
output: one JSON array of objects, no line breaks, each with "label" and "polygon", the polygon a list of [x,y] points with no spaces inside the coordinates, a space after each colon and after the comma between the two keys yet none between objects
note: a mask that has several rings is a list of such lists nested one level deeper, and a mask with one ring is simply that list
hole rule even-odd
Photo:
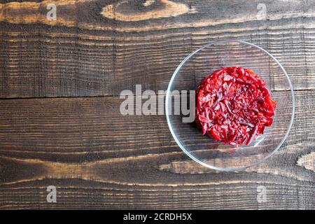
[{"label": "dark brown wood plank above the horizontal seam, with large knot", "polygon": [[46,19],[45,1],[1,2],[1,98],[165,90],[186,55],[228,38],[269,50],[295,90],[315,87],[313,1],[55,1],[56,21]]}]

